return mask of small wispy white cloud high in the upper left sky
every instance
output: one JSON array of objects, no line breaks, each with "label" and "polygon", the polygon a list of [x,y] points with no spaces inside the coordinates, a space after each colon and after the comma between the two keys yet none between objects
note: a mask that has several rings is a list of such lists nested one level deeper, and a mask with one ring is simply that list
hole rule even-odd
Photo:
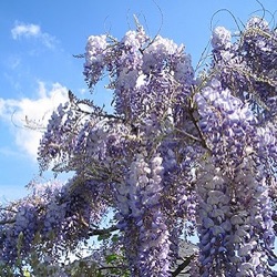
[{"label": "small wispy white cloud high in the upper left sky", "polygon": [[35,38],[40,40],[47,48],[53,49],[57,39],[47,32],[42,32],[40,25],[27,24],[16,21],[14,27],[11,29],[13,40],[20,38]]}]

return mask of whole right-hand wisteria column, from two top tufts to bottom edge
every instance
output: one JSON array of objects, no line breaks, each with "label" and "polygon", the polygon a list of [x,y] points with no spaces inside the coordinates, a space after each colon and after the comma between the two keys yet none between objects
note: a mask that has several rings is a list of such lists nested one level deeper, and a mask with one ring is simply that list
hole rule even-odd
[{"label": "whole right-hand wisteria column, from two top tufts to bottom edge", "polygon": [[213,78],[195,94],[209,150],[196,183],[202,276],[273,276],[277,263],[269,197],[276,166],[276,78],[266,61],[276,51],[271,35],[260,19],[248,22],[243,42],[232,43],[217,28]]}]

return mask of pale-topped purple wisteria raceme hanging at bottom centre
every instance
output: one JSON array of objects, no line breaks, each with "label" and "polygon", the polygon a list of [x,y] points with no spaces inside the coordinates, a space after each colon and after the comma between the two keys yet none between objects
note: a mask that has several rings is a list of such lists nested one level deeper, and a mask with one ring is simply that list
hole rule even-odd
[{"label": "pale-topped purple wisteria raceme hanging at bottom centre", "polygon": [[[121,228],[133,276],[170,276],[170,233],[162,211],[162,157],[137,154],[117,186]],[[131,233],[132,232],[132,233]]]}]

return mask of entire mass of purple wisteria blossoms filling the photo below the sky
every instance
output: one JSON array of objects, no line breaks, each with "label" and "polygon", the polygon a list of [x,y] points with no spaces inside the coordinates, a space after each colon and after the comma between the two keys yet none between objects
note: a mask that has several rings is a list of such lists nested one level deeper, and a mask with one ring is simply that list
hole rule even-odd
[{"label": "entire mass of purple wisteria blossoms filling the photo below the sky", "polygon": [[[184,45],[140,24],[122,40],[88,39],[85,81],[107,82],[114,113],[70,91],[52,114],[41,170],[74,176],[1,208],[3,273],[40,263],[41,276],[75,276],[50,264],[117,232],[99,250],[123,257],[117,276],[177,276],[181,238],[193,234],[192,276],[277,275],[277,32],[255,17],[237,39],[216,28],[212,47],[195,73]],[[102,230],[107,212],[114,225]],[[101,270],[96,254],[86,264]]]}]

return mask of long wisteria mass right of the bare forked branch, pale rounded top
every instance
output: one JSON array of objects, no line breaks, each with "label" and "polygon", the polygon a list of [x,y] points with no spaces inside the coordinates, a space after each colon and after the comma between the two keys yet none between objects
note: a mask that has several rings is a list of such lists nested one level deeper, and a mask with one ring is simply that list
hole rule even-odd
[{"label": "long wisteria mass right of the bare forked branch, pale rounded top", "polygon": [[270,274],[276,263],[273,212],[257,120],[217,79],[195,99],[208,163],[215,166],[205,165],[197,182],[203,276]]}]

